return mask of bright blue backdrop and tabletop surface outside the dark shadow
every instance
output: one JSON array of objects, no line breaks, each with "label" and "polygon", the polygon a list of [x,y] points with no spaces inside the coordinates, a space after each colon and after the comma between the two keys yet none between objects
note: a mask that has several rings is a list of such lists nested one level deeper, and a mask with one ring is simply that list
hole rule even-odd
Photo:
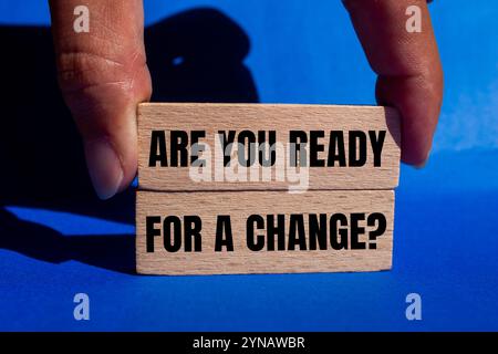
[{"label": "bright blue backdrop and tabletop surface outside the dark shadow", "polygon": [[[250,39],[245,63],[260,102],[374,103],[375,77],[340,2],[308,3],[145,2],[147,24],[199,6],[237,22]],[[0,248],[0,330],[497,331],[498,4],[436,1],[430,9],[445,102],[429,163],[402,168],[392,271],[132,275],[116,267],[133,242],[129,218],[13,202],[4,212],[20,226],[1,239],[22,233],[37,243],[45,235],[79,251],[50,260],[50,252]],[[48,23],[45,1],[0,2],[0,24]],[[133,204],[123,208],[129,214]],[[105,248],[92,247],[101,241]],[[76,292],[90,295],[90,321],[73,319]],[[422,321],[405,319],[411,292],[422,296]]]}]

